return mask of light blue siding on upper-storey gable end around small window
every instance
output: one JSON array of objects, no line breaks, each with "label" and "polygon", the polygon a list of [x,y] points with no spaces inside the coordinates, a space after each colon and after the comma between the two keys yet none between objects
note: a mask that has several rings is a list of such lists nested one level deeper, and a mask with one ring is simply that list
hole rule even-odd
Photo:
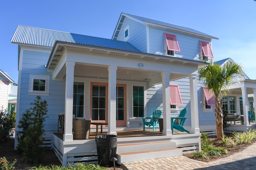
[{"label": "light blue siding on upper-storey gable end around small window", "polygon": [[126,18],[117,40],[124,41],[124,29],[127,26],[129,26],[129,38],[127,39],[127,42],[132,44],[140,51],[146,53],[146,26],[144,24],[140,24],[139,22],[135,22],[130,18]]}]

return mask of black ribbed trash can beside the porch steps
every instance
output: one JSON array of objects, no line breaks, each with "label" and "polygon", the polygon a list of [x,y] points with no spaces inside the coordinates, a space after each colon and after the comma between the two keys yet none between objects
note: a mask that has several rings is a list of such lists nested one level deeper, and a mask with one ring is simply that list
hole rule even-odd
[{"label": "black ribbed trash can beside the porch steps", "polygon": [[100,166],[114,166],[110,160],[116,157],[117,136],[113,134],[98,135],[95,137]]}]

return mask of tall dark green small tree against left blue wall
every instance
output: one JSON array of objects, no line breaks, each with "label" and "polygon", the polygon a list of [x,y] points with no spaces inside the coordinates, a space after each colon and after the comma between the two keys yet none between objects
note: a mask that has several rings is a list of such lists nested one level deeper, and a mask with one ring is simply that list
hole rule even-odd
[{"label": "tall dark green small tree against left blue wall", "polygon": [[47,102],[37,96],[31,105],[34,107],[27,109],[19,121],[18,128],[21,130],[17,132],[17,148],[22,152],[24,162],[35,163],[44,155],[41,146],[45,135]]}]

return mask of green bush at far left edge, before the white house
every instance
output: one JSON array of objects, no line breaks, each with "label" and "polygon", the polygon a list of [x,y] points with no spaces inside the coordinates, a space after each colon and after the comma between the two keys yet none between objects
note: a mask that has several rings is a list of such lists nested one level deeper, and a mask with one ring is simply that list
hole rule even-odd
[{"label": "green bush at far left edge, before the white house", "polygon": [[6,109],[0,109],[0,144],[6,142],[12,137],[12,128],[15,126],[15,117],[8,115]]}]

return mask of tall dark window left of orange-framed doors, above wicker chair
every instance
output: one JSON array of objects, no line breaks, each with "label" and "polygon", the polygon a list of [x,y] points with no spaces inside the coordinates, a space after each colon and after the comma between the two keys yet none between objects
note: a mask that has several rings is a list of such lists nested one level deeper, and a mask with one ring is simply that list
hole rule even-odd
[{"label": "tall dark window left of orange-framed doors, above wicker chair", "polygon": [[74,82],[73,115],[84,117],[84,83]]}]

